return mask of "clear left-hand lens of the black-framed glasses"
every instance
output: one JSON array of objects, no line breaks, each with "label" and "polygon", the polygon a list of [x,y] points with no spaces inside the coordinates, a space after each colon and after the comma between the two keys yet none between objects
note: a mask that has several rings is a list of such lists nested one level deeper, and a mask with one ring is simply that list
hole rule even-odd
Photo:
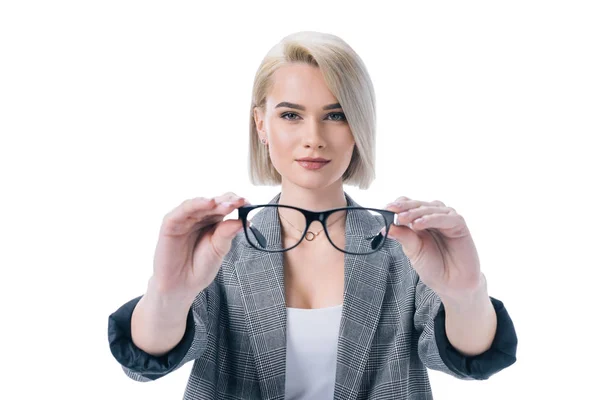
[{"label": "clear left-hand lens of the black-framed glasses", "polygon": [[[275,221],[279,214],[281,223],[281,236],[275,236],[275,229],[269,225],[254,224],[253,219],[257,214],[261,214],[261,218],[257,221]],[[268,218],[265,218],[268,216]],[[298,210],[287,207],[266,206],[258,207],[248,213],[248,223],[246,224],[246,235],[250,243],[264,250],[288,250],[296,246],[302,240],[302,232],[306,228],[306,218]],[[281,238],[284,238],[283,243]]]}]

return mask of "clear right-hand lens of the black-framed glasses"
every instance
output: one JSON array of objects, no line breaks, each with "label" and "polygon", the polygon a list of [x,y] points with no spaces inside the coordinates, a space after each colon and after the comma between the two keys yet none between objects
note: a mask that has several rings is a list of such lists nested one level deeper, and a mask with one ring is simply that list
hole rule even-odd
[{"label": "clear right-hand lens of the black-framed glasses", "polygon": [[[347,221],[360,222],[358,226],[350,227],[348,236],[345,235],[344,223]],[[351,244],[352,252],[357,254],[378,250],[383,245],[385,226],[383,214],[374,210],[341,210],[327,218],[327,232],[333,245],[339,250],[349,251],[348,245]]]}]

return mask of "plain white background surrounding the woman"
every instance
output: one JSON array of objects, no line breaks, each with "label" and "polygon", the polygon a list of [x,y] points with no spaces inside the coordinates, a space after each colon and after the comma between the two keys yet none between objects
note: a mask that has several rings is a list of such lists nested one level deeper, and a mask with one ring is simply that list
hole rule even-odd
[{"label": "plain white background surrounding the woman", "polygon": [[183,396],[191,363],[123,374],[108,315],[145,290],[173,207],[278,193],[248,179],[252,80],[317,30],[377,95],[377,179],[347,192],[454,207],[518,332],[516,364],[432,371],[435,398],[600,398],[599,20],[592,1],[2,2],[0,397]]}]

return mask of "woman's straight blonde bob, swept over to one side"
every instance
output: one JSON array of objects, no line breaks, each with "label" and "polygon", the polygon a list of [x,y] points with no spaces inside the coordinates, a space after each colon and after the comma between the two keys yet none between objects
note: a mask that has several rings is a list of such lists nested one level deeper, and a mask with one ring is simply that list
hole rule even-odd
[{"label": "woman's straight blonde bob, swept over to one side", "polygon": [[278,185],[281,175],[269,158],[258,136],[254,107],[264,109],[273,73],[287,63],[302,62],[319,67],[325,82],[336,97],[354,136],[356,146],[342,176],[344,183],[369,188],[375,179],[375,91],[361,58],[339,37],[303,31],[284,37],[262,60],[252,88],[250,107],[250,182]]}]

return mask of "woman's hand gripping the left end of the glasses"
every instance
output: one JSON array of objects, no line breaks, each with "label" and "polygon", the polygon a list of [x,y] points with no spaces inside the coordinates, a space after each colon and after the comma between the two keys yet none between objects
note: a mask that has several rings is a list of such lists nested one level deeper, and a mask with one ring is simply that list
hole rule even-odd
[{"label": "woman's hand gripping the left end of the glasses", "polygon": [[154,254],[154,288],[193,300],[215,279],[242,221],[223,218],[249,204],[235,193],[185,200],[165,215]]}]

